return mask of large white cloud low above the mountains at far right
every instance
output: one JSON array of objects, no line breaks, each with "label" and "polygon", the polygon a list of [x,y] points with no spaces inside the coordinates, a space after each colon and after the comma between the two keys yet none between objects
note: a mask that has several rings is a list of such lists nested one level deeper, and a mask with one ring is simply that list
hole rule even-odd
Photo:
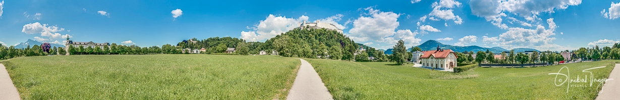
[{"label": "large white cloud low above the mountains at far right", "polygon": [[557,26],[553,18],[547,19],[547,23],[549,29],[545,29],[541,25],[536,26],[536,29],[509,28],[506,33],[500,34],[498,46],[507,49],[540,47],[541,45],[557,47],[557,45],[551,44],[552,40],[556,39],[556,37],[551,36],[556,35],[554,32]]}]

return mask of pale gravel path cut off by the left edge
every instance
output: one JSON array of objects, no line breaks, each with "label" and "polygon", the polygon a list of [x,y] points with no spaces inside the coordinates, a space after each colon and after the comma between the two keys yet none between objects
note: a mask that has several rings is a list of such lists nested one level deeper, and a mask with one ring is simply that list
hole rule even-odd
[{"label": "pale gravel path cut off by the left edge", "polygon": [[0,64],[0,99],[20,99],[17,88],[3,64]]}]

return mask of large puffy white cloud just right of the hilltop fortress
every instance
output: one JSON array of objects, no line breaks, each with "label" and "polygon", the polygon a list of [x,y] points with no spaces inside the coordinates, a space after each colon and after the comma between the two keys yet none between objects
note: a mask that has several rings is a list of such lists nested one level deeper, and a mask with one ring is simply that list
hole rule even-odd
[{"label": "large puffy white cloud just right of the hilltop fortress", "polygon": [[385,37],[396,33],[395,30],[400,24],[397,20],[401,14],[381,12],[372,7],[364,10],[368,10],[369,13],[366,14],[370,17],[362,16],[353,21],[353,28],[348,31],[350,34],[347,34],[351,39],[358,42],[367,40],[381,42]]}]

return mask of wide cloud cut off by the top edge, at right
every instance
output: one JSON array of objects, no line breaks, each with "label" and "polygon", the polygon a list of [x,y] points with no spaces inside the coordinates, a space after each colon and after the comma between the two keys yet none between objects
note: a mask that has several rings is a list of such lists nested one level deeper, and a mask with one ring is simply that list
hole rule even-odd
[{"label": "wide cloud cut off by the top edge, at right", "polygon": [[[513,13],[525,17],[528,21],[535,21],[536,15],[541,12],[554,13],[555,9],[567,9],[569,6],[577,6],[582,0],[553,0],[553,1],[529,1],[529,0],[471,0],[472,15],[484,17],[487,21],[499,28],[508,29],[502,23],[502,17],[507,16],[504,12]],[[528,24],[521,24],[527,26]]]}]

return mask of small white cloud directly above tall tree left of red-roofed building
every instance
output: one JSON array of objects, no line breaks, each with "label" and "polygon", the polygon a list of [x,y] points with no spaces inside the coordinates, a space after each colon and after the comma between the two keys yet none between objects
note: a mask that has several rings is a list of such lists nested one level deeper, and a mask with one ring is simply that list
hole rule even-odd
[{"label": "small white cloud directly above tall tree left of red-roofed building", "polygon": [[416,38],[415,35],[417,32],[411,32],[409,29],[401,29],[396,31],[393,37],[386,37],[385,43],[387,44],[396,44],[398,40],[403,40],[405,42],[405,47],[412,47],[413,45],[419,45],[422,39]]}]

